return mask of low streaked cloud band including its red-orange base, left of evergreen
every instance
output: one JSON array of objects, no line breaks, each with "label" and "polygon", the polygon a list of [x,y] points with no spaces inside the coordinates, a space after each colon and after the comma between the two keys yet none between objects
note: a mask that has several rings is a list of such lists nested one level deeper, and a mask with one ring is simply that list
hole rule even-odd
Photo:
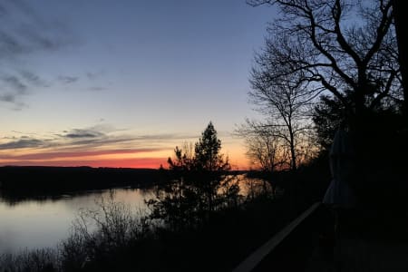
[{"label": "low streaked cloud band including its red-orange base, left of evergreen", "polygon": [[138,135],[107,124],[47,135],[12,131],[0,139],[0,165],[159,167],[175,145],[197,137],[180,133]]}]

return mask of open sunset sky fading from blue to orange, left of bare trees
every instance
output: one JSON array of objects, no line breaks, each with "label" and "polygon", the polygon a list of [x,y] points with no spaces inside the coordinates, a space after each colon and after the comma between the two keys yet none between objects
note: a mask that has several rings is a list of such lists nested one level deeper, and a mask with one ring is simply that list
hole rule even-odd
[{"label": "open sunset sky fading from blue to orange, left of bare trees", "polygon": [[0,165],[159,168],[212,121],[233,169],[272,7],[0,2]]}]

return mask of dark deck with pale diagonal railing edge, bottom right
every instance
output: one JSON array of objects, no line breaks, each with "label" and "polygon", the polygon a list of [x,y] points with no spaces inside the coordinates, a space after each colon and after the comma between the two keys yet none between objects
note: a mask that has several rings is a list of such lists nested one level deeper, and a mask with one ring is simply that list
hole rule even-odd
[{"label": "dark deck with pale diagonal railing edge, bottom right", "polygon": [[365,226],[360,230],[339,231],[334,245],[330,214],[312,206],[234,272],[408,271],[408,215],[360,222]]}]

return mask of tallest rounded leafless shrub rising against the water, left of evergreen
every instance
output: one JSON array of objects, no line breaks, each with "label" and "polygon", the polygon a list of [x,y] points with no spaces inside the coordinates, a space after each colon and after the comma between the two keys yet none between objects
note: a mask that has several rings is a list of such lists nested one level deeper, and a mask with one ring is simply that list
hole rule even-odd
[{"label": "tallest rounded leafless shrub rising against the water, left of evergreen", "polygon": [[151,224],[141,210],[132,211],[112,198],[101,199],[98,208],[81,210],[70,237],[61,243],[63,270],[79,270],[109,260],[151,232]]}]

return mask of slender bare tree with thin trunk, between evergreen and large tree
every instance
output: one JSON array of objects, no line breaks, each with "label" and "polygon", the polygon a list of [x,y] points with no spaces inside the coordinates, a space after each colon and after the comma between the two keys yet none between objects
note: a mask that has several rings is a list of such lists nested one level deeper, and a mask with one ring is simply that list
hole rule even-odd
[{"label": "slender bare tree with thin trunk, between evergreen and large tree", "polygon": [[[308,105],[316,94],[299,85],[293,77],[287,76],[280,82],[271,81],[271,67],[264,65],[267,58],[265,53],[257,54],[257,66],[253,67],[251,73],[250,100],[257,105],[257,110],[267,117],[263,126],[273,128],[269,133],[273,131],[272,135],[287,146],[290,168],[296,170],[298,146],[301,144],[299,140],[302,138],[302,141],[305,141],[305,135],[311,131]],[[259,128],[258,125],[257,129]]]}]

